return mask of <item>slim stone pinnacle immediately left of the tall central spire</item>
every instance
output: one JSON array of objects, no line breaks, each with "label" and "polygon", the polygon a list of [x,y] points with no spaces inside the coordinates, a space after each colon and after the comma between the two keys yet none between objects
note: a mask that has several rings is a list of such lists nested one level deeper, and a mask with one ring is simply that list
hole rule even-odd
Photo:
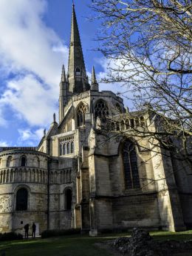
[{"label": "slim stone pinnacle immediately left of the tall central spire", "polygon": [[59,93],[59,122],[64,118],[64,106],[67,102],[67,91],[68,91],[68,83],[66,82],[66,74],[65,67],[62,66],[61,72],[61,82],[59,84],[60,93]]}]

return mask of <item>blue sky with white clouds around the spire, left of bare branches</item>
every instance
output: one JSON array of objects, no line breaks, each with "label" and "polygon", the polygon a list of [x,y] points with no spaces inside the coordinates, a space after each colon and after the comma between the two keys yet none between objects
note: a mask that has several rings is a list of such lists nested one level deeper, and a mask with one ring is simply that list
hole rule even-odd
[{"label": "blue sky with white clouds around the spire, left of bare branches", "polygon": [[[76,0],[86,69],[95,65],[98,79],[106,75],[106,60],[97,47],[98,22],[87,0]],[[67,68],[72,13],[69,0],[0,1],[0,146],[38,145],[52,114],[58,114],[61,65]],[[113,87],[114,88],[114,87]],[[100,90],[119,91],[110,85]]]}]

